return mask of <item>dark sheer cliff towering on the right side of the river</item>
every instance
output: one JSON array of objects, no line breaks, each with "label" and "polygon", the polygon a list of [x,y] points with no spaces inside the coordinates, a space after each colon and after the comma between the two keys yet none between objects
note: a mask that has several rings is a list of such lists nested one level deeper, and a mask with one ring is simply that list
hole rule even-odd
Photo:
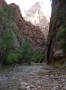
[{"label": "dark sheer cliff towering on the right side of the river", "polygon": [[[62,41],[58,41],[57,38],[60,32],[66,27],[66,1],[64,0],[52,0],[52,14],[50,20],[50,28],[48,34],[48,50],[47,61],[52,62],[54,57],[63,54],[61,44]],[[61,59],[61,58],[60,58]]]}]

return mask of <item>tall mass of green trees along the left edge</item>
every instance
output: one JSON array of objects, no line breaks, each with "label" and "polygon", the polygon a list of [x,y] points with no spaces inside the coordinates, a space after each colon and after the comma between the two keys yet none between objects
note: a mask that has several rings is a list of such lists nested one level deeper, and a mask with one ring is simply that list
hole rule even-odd
[{"label": "tall mass of green trees along the left edge", "polygon": [[0,61],[6,62],[6,58],[10,52],[14,51],[13,39],[13,16],[14,10],[7,5],[0,8]]}]

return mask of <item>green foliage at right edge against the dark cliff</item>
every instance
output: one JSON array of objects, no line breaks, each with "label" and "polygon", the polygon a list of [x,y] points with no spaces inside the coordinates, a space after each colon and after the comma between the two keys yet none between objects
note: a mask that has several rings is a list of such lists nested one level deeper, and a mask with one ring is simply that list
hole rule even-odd
[{"label": "green foliage at right edge against the dark cliff", "polygon": [[57,40],[58,40],[58,41],[60,41],[60,40],[63,41],[63,42],[62,42],[62,48],[63,48],[63,52],[66,53],[66,28],[64,28],[64,29],[61,31],[61,33],[60,33],[60,35],[59,35],[59,37],[58,37]]}]

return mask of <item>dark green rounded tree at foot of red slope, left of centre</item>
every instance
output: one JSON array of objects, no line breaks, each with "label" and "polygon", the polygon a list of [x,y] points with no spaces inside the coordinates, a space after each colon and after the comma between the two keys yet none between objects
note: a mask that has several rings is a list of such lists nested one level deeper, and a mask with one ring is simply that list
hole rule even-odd
[{"label": "dark green rounded tree at foot of red slope, left of centre", "polygon": [[20,62],[30,63],[33,56],[33,48],[29,42],[25,42],[19,50]]}]

